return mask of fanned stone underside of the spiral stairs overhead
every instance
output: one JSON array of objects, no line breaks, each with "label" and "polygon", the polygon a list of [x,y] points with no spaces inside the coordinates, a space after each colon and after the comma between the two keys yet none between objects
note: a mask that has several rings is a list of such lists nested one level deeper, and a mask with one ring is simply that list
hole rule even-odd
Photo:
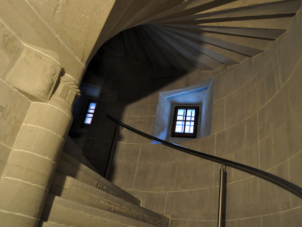
[{"label": "fanned stone underside of the spiral stairs overhead", "polygon": [[122,31],[129,59],[213,71],[265,51],[286,32],[300,5],[300,0],[117,1],[99,42]]}]

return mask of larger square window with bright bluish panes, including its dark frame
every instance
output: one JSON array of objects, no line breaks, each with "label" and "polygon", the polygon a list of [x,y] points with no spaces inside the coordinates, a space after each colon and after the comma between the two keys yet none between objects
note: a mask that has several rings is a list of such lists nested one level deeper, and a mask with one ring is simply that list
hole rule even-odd
[{"label": "larger square window with bright bluish panes, including its dark frame", "polygon": [[171,137],[196,138],[199,106],[175,106]]}]

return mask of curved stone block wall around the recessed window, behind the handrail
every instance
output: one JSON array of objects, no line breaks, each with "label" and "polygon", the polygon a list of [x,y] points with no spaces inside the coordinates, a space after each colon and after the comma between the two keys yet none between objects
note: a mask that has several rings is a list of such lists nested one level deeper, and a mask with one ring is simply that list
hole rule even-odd
[{"label": "curved stone block wall around the recessed window, behind the handrail", "polygon": [[[302,186],[300,15],[301,12],[293,18],[287,33],[263,54],[239,66],[213,73],[194,71],[173,81],[169,77],[152,78],[148,82],[152,89],[143,97],[124,96],[131,100],[127,105],[112,99],[107,99],[106,104],[115,102],[115,108],[120,108],[117,118],[151,134],[160,91],[215,77],[211,135],[180,145],[260,168]],[[140,76],[141,80],[144,75]],[[137,89],[124,80],[116,84],[112,79],[107,91],[115,93],[110,97]],[[144,87],[138,89],[140,93],[145,91]],[[99,130],[94,133],[104,130],[102,124],[98,123]],[[171,226],[215,226],[219,168],[219,164],[150,144],[122,129],[111,180],[141,199],[146,208],[172,217]],[[299,198],[246,173],[232,168],[226,171],[227,226],[302,223]]]}]

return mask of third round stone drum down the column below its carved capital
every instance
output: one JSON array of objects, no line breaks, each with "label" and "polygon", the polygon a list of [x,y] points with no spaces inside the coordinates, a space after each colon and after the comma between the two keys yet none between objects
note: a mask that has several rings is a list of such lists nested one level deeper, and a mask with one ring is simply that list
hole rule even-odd
[{"label": "third round stone drum down the column below its carved capital", "polygon": [[56,164],[34,154],[12,150],[3,177],[20,179],[48,189]]}]

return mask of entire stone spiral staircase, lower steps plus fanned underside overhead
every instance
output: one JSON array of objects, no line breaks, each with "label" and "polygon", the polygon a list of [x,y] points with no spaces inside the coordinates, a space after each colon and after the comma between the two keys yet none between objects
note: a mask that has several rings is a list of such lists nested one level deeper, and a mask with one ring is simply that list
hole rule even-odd
[{"label": "entire stone spiral staircase, lower steps plus fanned underside overhead", "polygon": [[[105,48],[161,69],[226,70],[282,38],[300,6],[300,0],[121,0],[97,43],[109,40]],[[40,226],[169,226],[169,218],[141,208],[63,153]]]}]

